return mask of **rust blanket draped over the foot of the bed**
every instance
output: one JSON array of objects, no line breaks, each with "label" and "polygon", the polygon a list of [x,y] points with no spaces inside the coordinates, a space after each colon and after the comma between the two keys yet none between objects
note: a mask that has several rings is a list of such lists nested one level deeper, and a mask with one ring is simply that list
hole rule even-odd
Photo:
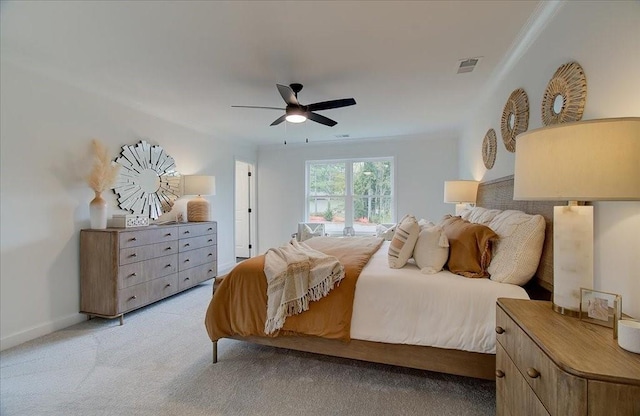
[{"label": "rust blanket draped over the foot of the bed", "polygon": [[265,334],[267,317],[267,279],[265,256],[238,264],[216,289],[207,309],[205,326],[212,341],[228,336],[315,335],[348,341],[356,282],[362,268],[375,253],[382,239],[374,237],[315,237],[305,244],[334,256],[345,269],[345,277],[328,296],[310,302],[309,310],[287,317],[284,327]]}]

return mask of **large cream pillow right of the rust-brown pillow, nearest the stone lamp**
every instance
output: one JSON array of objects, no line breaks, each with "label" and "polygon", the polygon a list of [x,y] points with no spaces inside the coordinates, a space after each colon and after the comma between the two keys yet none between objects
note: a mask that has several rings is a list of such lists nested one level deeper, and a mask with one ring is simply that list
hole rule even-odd
[{"label": "large cream pillow right of the rust-brown pillow, nearest the stone lamp", "polygon": [[536,273],[542,255],[544,217],[507,210],[497,214],[489,228],[500,237],[493,243],[493,257],[487,268],[491,280],[526,284]]}]

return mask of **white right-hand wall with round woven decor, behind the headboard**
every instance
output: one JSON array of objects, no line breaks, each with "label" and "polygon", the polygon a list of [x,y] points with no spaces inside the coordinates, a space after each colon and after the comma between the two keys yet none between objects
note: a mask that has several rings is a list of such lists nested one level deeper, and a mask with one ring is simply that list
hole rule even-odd
[{"label": "white right-hand wall with round woven decor, behind the headboard", "polygon": [[[511,92],[529,97],[529,129],[542,127],[541,105],[556,69],[577,61],[587,77],[583,120],[640,116],[640,2],[568,2],[522,58],[500,80],[465,130],[460,142],[460,175],[495,179],[514,171],[514,153],[505,150],[500,117]],[[482,139],[498,134],[494,168],[482,163]],[[604,138],[603,138],[604,139]],[[640,318],[640,202],[595,204],[595,288],[622,294],[626,313]]]}]

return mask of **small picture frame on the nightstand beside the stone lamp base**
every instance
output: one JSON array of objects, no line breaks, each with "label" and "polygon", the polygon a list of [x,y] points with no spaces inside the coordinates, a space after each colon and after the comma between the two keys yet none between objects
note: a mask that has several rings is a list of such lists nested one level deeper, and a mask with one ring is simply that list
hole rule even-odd
[{"label": "small picture frame on the nightstand beside the stone lamp base", "polygon": [[580,288],[580,320],[613,329],[618,336],[618,321],[622,316],[622,296],[616,293]]}]

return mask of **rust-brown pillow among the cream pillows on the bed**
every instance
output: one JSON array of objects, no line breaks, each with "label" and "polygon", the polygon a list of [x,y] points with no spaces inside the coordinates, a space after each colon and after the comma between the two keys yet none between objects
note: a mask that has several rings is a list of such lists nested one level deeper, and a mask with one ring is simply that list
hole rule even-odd
[{"label": "rust-brown pillow among the cream pillows on the bed", "polygon": [[439,225],[449,239],[449,271],[465,277],[489,277],[491,243],[498,234],[485,225],[451,215],[446,215]]}]

